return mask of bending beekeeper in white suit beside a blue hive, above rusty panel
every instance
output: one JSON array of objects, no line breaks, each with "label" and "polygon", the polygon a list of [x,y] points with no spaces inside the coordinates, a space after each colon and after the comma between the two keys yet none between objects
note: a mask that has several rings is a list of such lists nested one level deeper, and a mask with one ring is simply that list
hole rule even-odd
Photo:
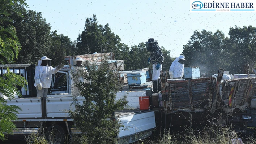
[{"label": "bending beekeeper in white suit beside a blue hive, above rusty panel", "polygon": [[185,57],[180,55],[179,57],[176,57],[176,59],[172,62],[169,69],[169,75],[171,79],[179,79],[183,77],[185,61]]}]

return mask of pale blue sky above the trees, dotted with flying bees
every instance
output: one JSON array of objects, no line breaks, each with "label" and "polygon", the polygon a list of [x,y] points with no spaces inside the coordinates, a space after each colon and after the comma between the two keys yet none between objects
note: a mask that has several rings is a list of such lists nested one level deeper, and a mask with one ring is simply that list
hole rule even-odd
[{"label": "pale blue sky above the trees, dotted with flying bees", "polygon": [[191,13],[189,0],[26,0],[30,10],[42,12],[51,31],[76,40],[86,18],[96,15],[98,23],[129,47],[158,40],[159,46],[178,57],[195,30],[222,31],[229,37],[230,27],[255,26],[255,13]]}]

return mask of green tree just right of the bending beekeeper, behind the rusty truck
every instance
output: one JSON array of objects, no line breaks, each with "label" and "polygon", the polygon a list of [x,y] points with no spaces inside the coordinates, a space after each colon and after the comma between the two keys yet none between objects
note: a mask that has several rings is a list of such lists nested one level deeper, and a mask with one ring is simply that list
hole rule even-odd
[{"label": "green tree just right of the bending beekeeper, behind the rusty truck", "polygon": [[201,33],[194,31],[188,44],[183,47],[182,53],[187,59],[185,66],[200,66],[208,76],[217,73],[219,67],[226,69],[224,41],[224,34],[219,30],[214,34],[206,30]]}]

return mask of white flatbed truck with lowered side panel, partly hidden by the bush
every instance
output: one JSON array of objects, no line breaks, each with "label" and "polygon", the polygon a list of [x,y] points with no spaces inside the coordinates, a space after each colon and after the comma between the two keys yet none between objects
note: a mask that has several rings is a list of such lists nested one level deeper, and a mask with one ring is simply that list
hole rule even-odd
[{"label": "white flatbed truck with lowered side panel, partly hidden by the bush", "polygon": [[[74,108],[72,103],[72,95],[69,77],[69,70],[62,69],[52,77],[52,87],[49,88],[47,97],[37,97],[37,91],[34,87],[35,65],[0,65],[0,76],[7,73],[9,67],[12,73],[21,75],[26,78],[28,85],[27,91],[20,88],[22,97],[16,97],[12,100],[7,100],[8,105],[17,105],[22,111],[18,114],[18,120],[14,121],[17,130],[14,134],[31,134],[34,132],[42,132],[42,130],[53,130],[52,137],[54,143],[64,144],[67,136],[72,138],[72,135],[80,134],[76,130],[73,119],[65,110]],[[117,93],[116,99],[125,95],[127,91]],[[133,110],[123,110],[115,112],[116,119],[120,120],[125,126],[125,130],[120,128],[119,143],[133,143],[138,139],[147,138],[156,128],[155,113],[152,110],[138,110],[138,97],[145,95],[146,91],[128,91],[128,105],[133,107]],[[5,97],[6,96],[1,95]],[[84,97],[77,97],[77,100],[82,103]]]}]

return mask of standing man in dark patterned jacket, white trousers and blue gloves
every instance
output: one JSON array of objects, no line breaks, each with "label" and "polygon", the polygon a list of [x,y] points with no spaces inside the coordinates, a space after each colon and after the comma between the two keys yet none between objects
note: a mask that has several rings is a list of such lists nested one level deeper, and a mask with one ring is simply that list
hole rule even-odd
[{"label": "standing man in dark patterned jacket, white trousers and blue gloves", "polygon": [[158,46],[157,40],[150,38],[148,42],[146,42],[146,46],[148,51],[150,52],[150,58],[148,59],[148,63],[153,64],[153,73],[152,73],[152,81],[153,81],[153,93],[158,93],[161,91],[161,79],[160,74],[162,71],[163,64],[163,53],[161,48]]}]

